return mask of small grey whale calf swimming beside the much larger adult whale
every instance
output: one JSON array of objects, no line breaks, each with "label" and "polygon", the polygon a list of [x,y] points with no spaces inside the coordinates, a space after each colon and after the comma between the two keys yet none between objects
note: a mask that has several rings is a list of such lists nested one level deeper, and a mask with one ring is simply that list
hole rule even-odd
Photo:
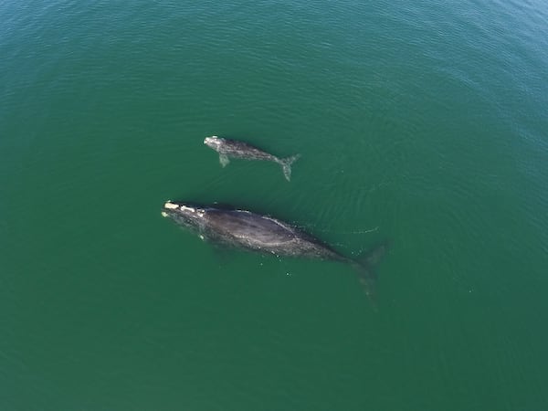
[{"label": "small grey whale calf swimming beside the much larger adult whale", "polygon": [[279,163],[281,170],[286,180],[291,179],[291,164],[300,158],[300,154],[292,155],[288,158],[279,158],[273,154],[263,152],[247,142],[238,142],[237,140],[223,139],[213,135],[205,137],[204,144],[211,147],[219,153],[219,163],[225,167],[230,163],[231,158],[243,158],[246,160],[265,160],[269,162]]}]

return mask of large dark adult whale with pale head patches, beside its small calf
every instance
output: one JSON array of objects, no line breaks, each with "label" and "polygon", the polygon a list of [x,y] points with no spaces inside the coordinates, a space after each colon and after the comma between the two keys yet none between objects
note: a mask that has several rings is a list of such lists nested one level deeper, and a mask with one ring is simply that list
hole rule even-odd
[{"label": "large dark adult whale with pale head patches, beside its small calf", "polygon": [[354,259],[343,256],[297,227],[248,210],[167,201],[162,215],[204,240],[276,256],[320,258],[350,264],[358,272],[365,293],[374,300],[373,266],[385,254],[385,244],[375,247],[365,258]]}]

